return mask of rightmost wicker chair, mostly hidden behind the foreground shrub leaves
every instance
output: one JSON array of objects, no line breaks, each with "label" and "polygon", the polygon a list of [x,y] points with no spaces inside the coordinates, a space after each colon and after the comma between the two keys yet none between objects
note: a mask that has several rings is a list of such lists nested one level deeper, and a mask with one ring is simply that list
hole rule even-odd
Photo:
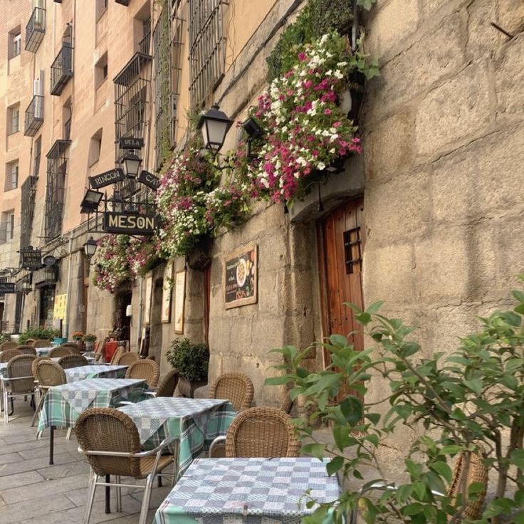
[{"label": "rightmost wicker chair, mostly hidden behind the foreground shrub leaves", "polygon": [[[481,517],[482,505],[488,488],[488,470],[486,464],[483,463],[482,458],[481,454],[473,453],[473,451],[462,451],[456,459],[447,496],[454,498],[459,493],[468,493],[468,486],[471,486],[473,483],[480,483],[483,486],[481,491],[476,493],[475,500],[467,501],[466,499],[465,504],[462,507],[461,518],[456,521],[457,523],[461,523],[463,519],[477,520]],[[360,489],[359,495],[362,496],[364,493],[374,490],[397,491],[397,487],[394,483],[377,481],[372,483],[371,486]],[[444,493],[439,493],[438,491],[431,491],[431,493],[436,496],[444,495]],[[349,524],[357,524],[357,522],[358,505],[351,512]]]}]

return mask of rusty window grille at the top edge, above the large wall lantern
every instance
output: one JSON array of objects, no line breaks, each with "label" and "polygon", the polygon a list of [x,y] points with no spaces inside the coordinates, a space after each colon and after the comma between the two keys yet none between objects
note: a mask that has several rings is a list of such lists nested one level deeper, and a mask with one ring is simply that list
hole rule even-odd
[{"label": "rusty window grille at the top edge, above the large wall lantern", "polygon": [[193,108],[203,103],[224,77],[224,6],[228,5],[229,0],[189,0],[189,92]]}]

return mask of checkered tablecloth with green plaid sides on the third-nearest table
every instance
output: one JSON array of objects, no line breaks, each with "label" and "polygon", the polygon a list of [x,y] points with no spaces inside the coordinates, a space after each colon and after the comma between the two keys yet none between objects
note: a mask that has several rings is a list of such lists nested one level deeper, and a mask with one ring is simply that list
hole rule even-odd
[{"label": "checkered tablecloth with green plaid sides on the third-nearest table", "polygon": [[141,379],[86,379],[48,389],[43,399],[38,432],[46,427],[73,427],[91,407],[116,407],[122,400],[140,402],[147,383]]}]

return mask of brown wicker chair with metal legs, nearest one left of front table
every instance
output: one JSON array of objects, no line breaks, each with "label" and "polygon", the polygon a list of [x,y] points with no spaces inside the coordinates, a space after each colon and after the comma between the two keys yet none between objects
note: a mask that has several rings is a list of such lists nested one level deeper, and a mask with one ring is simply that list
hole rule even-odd
[{"label": "brown wicker chair with metal legs, nearest one left of front table", "polygon": [[[87,456],[91,466],[83,524],[89,523],[95,489],[106,485],[106,475],[115,476],[116,483],[112,486],[117,488],[117,511],[122,510],[120,476],[147,479],[145,486],[132,486],[145,489],[138,521],[145,524],[154,477],[171,463],[175,468],[172,474],[174,483],[177,462],[173,455],[162,454],[170,441],[166,439],[156,449],[141,452],[137,426],[125,413],[112,408],[87,409],[78,417],[75,433],[80,444],[78,450]],[[102,481],[98,481],[100,476]]]}]

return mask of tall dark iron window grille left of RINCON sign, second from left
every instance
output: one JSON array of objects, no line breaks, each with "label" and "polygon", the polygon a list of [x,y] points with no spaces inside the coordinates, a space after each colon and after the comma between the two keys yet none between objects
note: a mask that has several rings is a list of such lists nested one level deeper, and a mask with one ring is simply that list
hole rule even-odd
[{"label": "tall dark iron window grille left of RINCON sign, second from left", "polygon": [[56,140],[47,157],[46,241],[62,232],[66,170],[70,140]]}]

